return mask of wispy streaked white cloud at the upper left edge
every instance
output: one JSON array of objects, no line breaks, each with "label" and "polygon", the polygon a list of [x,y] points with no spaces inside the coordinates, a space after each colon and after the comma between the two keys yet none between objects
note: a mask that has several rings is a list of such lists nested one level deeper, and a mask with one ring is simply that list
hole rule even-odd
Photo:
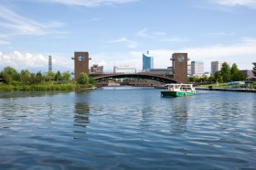
[{"label": "wispy streaked white cloud at the upper left edge", "polygon": [[66,32],[61,32],[56,28],[63,27],[61,22],[38,22],[36,20],[29,19],[24,16],[16,14],[14,11],[8,9],[5,6],[0,5],[0,27],[5,30],[9,36],[15,35],[63,35]]}]

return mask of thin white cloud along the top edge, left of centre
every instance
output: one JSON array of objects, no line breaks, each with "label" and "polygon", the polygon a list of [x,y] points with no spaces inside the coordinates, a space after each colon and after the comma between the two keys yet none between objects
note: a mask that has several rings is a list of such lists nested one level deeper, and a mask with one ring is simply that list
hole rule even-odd
[{"label": "thin white cloud along the top edge, left of centre", "polygon": [[116,5],[131,3],[136,0],[37,0],[37,2],[48,2],[63,5],[82,5],[86,7],[95,7],[99,5]]}]

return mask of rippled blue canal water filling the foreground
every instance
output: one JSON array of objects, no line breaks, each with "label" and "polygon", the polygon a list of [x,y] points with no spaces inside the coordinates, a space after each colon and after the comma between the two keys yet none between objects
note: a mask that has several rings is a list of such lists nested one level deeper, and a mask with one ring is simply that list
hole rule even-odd
[{"label": "rippled blue canal water filling the foreground", "polygon": [[0,92],[0,169],[256,169],[256,94]]}]

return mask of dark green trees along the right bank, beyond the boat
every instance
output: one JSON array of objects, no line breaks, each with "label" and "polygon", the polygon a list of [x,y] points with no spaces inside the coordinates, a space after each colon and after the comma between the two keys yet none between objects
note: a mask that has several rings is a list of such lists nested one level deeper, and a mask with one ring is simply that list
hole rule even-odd
[{"label": "dark green trees along the right bank, beyond the boat", "polygon": [[[253,69],[252,72],[254,74],[254,76],[256,77],[256,62],[253,62]],[[236,63],[232,64],[232,66],[230,67],[229,64],[227,62],[224,62],[221,65],[221,69],[217,72],[215,72],[215,74],[213,76],[205,76],[205,77],[198,77],[198,76],[194,76],[194,77],[190,77],[189,81],[190,82],[219,82],[219,83],[223,83],[223,82],[229,82],[229,81],[240,81],[240,80],[246,80],[247,79],[247,75],[244,74],[243,72],[240,71],[240,69],[238,69],[238,66]]]}]

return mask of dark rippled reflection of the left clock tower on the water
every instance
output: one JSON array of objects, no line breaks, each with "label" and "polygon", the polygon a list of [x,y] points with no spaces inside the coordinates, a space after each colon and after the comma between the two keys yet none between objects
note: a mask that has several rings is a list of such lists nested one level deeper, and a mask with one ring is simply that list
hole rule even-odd
[{"label": "dark rippled reflection of the left clock tower on the water", "polygon": [[74,137],[74,139],[86,139],[84,135],[86,133],[85,128],[90,122],[90,108],[87,103],[75,103],[74,105],[74,126],[76,127],[73,133],[80,134]]}]

